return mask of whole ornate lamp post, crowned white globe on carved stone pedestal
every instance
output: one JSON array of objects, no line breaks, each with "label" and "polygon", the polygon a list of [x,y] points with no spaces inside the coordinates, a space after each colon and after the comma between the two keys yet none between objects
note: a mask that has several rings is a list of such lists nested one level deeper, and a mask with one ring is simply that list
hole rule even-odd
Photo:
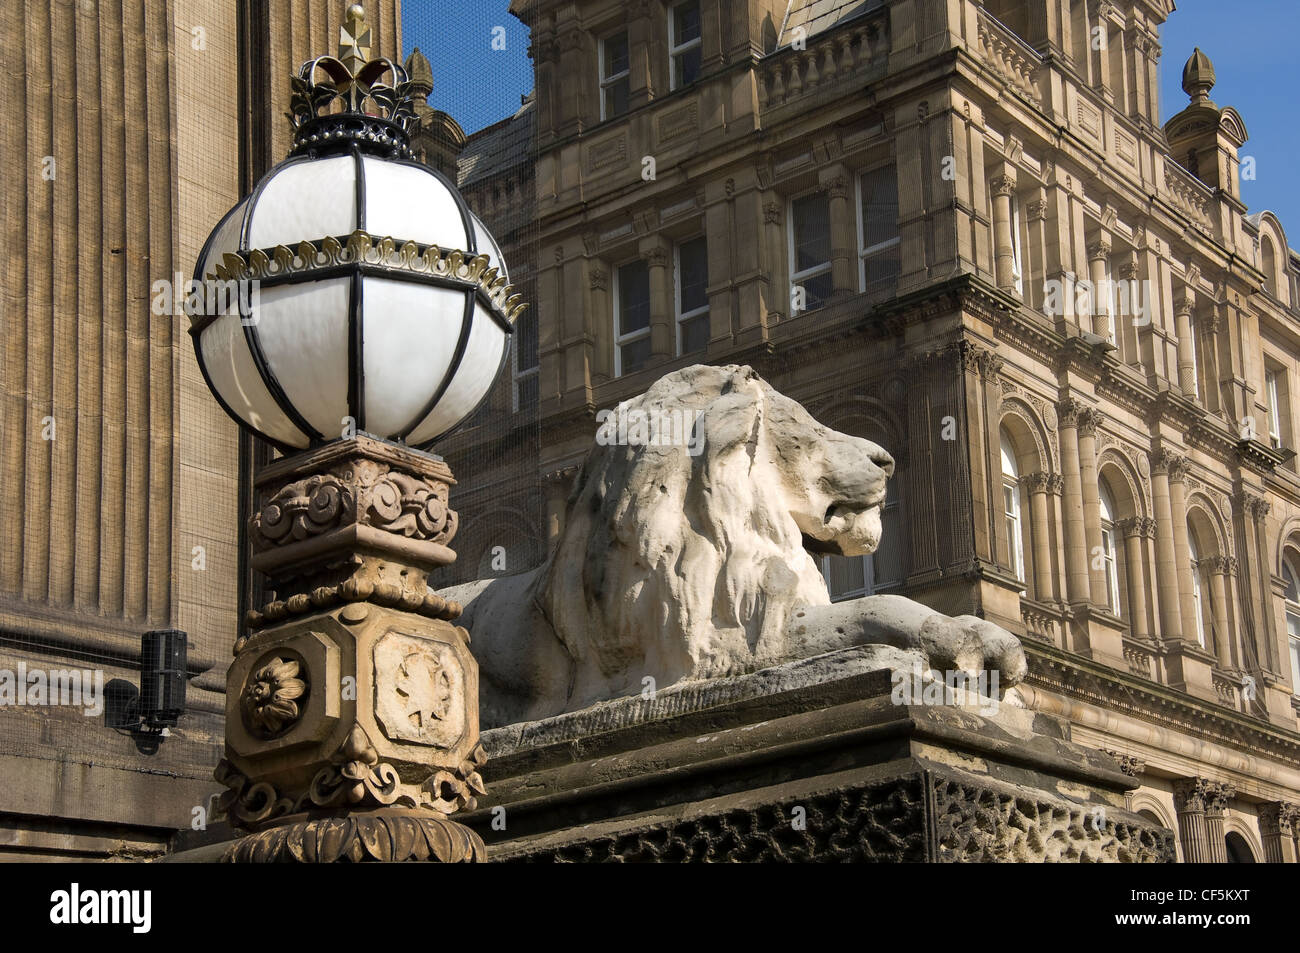
[{"label": "whole ornate lamp post, crowned white globe on carved stone pedestal", "polygon": [[406,72],[341,52],[292,81],[294,146],[209,237],[200,282],[238,282],[195,321],[222,408],[283,458],[257,478],[252,566],[274,588],[226,680],[217,777],[250,831],[233,861],[476,861],[448,818],[482,793],[478,672],[460,612],[428,586],[455,559],[451,471],[424,452],[508,354],[500,250],[416,163]]}]

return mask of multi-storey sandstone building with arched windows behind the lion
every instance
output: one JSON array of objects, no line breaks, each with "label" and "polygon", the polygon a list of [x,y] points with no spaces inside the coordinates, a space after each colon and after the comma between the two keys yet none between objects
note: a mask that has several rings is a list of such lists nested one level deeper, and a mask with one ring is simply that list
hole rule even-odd
[{"label": "multi-storey sandstone building with arched windows behind the lion", "polygon": [[510,425],[448,442],[495,462],[458,488],[460,577],[554,538],[599,408],[753,364],[897,459],[887,542],[827,560],[832,595],[1022,634],[1019,694],[1121,758],[1182,859],[1295,861],[1296,259],[1199,51],[1161,124],[1173,4],[512,12],[537,86],[504,127],[536,153],[462,181],[494,229],[536,216],[537,404],[516,363]]}]

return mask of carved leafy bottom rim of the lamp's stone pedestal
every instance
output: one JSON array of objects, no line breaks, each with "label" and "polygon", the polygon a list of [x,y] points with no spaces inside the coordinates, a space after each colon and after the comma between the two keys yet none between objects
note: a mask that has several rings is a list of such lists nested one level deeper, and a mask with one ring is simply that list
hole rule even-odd
[{"label": "carved leafy bottom rim of the lamp's stone pedestal", "polygon": [[[177,858],[181,859],[181,858]],[[294,815],[229,844],[222,863],[481,863],[478,835],[436,811],[381,807],[337,816]]]}]

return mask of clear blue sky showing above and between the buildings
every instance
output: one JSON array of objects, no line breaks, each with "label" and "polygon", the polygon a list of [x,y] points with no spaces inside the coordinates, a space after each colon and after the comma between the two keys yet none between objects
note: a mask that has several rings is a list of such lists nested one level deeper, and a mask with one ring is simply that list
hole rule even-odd
[{"label": "clear blue sky showing above and between the buildings", "polygon": [[[533,87],[528,30],[507,7],[507,0],[402,4],[407,51],[420,47],[433,65],[429,101],[455,116],[465,133],[512,114]],[[494,27],[504,29],[504,49],[493,48]],[[1254,157],[1257,178],[1242,183],[1242,196],[1252,212],[1277,212],[1291,231],[1291,244],[1300,247],[1300,198],[1294,187],[1300,124],[1291,92],[1296,36],[1296,0],[1178,0],[1160,38],[1160,95],[1164,121],[1187,103],[1180,82],[1192,48],[1205,51],[1218,77],[1210,98],[1236,107],[1251,134],[1242,155]]]}]

